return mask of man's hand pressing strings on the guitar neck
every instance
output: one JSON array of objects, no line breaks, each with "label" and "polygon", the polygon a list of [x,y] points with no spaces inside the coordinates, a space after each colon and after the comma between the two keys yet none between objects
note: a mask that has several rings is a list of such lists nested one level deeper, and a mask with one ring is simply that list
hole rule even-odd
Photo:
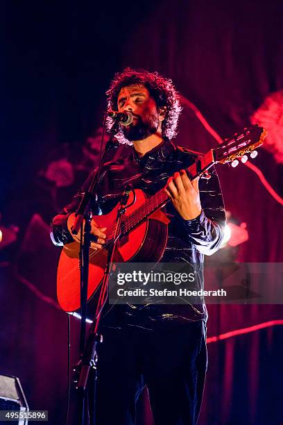
[{"label": "man's hand pressing strings on the guitar neck", "polygon": [[173,206],[185,220],[192,220],[201,213],[200,192],[198,178],[190,181],[185,169],[170,177],[165,187],[165,192],[171,199]]}]

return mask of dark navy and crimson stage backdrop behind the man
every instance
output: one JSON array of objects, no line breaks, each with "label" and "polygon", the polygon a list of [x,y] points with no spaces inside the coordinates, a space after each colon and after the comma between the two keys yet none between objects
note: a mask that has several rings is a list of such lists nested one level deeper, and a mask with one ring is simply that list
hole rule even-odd
[{"label": "dark navy and crimson stage backdrop behind the man", "polygon": [[[19,376],[30,407],[49,410],[54,425],[65,417],[67,317],[55,304],[59,251],[49,222],[96,163],[114,72],[132,66],[169,76],[223,137],[283,89],[281,0],[118,3],[1,3],[0,374]],[[176,142],[215,147],[183,106]],[[282,118],[275,125],[280,134]],[[282,162],[261,149],[253,164],[282,196]],[[282,205],[244,165],[218,174],[226,208],[249,233],[233,251],[237,260],[282,262]],[[280,305],[209,306],[208,336],[276,319]],[[71,330],[74,361],[76,319]],[[208,344],[201,425],[282,423],[282,337],[282,326],[271,326]],[[151,424],[145,397],[138,416]]]}]

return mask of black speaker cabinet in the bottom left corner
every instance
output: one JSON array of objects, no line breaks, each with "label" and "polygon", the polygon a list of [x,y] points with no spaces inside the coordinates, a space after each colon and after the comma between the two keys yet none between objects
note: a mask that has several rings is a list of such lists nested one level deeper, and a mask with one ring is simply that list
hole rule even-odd
[{"label": "black speaker cabinet in the bottom left corner", "polygon": [[[20,412],[28,412],[28,403],[19,378],[11,375],[0,375],[0,410],[14,410]],[[6,424],[8,422],[2,422]],[[13,424],[26,425],[28,419],[19,419],[19,422]]]}]

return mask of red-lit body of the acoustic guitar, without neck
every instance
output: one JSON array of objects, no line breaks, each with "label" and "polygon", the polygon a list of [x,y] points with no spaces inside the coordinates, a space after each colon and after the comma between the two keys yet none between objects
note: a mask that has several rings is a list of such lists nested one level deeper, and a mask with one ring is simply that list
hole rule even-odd
[{"label": "red-lit body of the acoustic guitar, without neck", "polygon": [[[128,217],[135,212],[139,206],[146,202],[146,194],[142,190],[135,190],[135,203],[126,208],[123,217]],[[133,201],[133,194],[130,193],[127,205]],[[113,237],[117,219],[117,205],[106,215],[96,215],[94,221],[102,227],[107,227],[105,234],[107,245],[108,240]],[[162,210],[157,210],[144,219],[141,224],[133,228],[128,234],[123,235],[117,242],[114,252],[114,262],[123,263],[132,261],[133,263],[151,262],[157,263],[162,257],[166,247],[169,219]],[[62,310],[68,313],[75,312],[80,308],[80,269],[79,269],[80,244],[72,242],[62,249],[58,263],[57,274],[57,297]],[[94,296],[97,288],[101,284],[108,258],[107,247],[95,251],[89,250],[89,283],[87,288],[87,301]]]}]

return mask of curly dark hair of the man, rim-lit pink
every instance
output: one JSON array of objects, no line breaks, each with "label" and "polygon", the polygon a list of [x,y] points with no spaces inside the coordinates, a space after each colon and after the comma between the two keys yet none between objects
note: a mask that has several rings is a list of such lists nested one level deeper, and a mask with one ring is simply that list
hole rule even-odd
[{"label": "curly dark hair of the man, rim-lit pink", "polygon": [[[132,84],[141,84],[148,90],[155,100],[157,109],[165,108],[164,120],[162,121],[162,137],[173,138],[176,135],[178,118],[182,110],[180,97],[175,91],[172,81],[164,78],[157,72],[148,72],[145,69],[126,68],[114,75],[110,88],[106,92],[108,109],[117,110],[117,101],[121,88]],[[112,127],[113,119],[108,117],[108,130]],[[121,143],[129,143],[120,130],[116,138]],[[131,144],[131,143],[130,143]]]}]

